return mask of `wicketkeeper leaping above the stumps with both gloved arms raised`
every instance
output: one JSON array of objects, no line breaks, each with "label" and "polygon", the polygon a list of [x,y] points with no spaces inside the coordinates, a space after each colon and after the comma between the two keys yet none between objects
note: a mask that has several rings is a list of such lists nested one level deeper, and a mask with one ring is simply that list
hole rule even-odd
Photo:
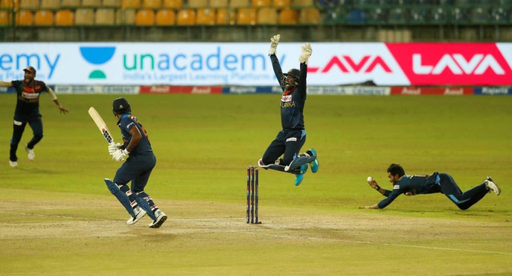
[{"label": "wicketkeeper leaping above the stumps with both gloved arms raised", "polygon": [[[304,104],[306,102],[306,76],[308,58],[311,56],[311,46],[306,43],[301,47],[301,62],[299,69],[291,69],[283,74],[281,65],[275,51],[281,36],[274,35],[271,40],[268,55],[272,60],[275,76],[278,78],[283,95],[281,96],[281,125],[283,130],[270,143],[263,157],[258,161],[264,169],[288,172],[295,175],[295,186],[301,184],[304,174],[311,166],[311,172],[318,171],[316,151],[311,148],[306,153],[299,153],[306,142],[306,130],[304,129]],[[283,158],[280,159],[281,155]]]}]

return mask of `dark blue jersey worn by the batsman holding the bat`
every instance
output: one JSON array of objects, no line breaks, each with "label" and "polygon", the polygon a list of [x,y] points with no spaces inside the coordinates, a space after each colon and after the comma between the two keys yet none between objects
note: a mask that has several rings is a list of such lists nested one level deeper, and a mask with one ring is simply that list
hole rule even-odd
[{"label": "dark blue jersey worn by the batsman holding the bat", "polygon": [[132,116],[132,114],[124,114],[117,122],[117,125],[119,126],[119,129],[121,129],[121,137],[123,139],[124,148],[128,146],[130,140],[132,139],[132,136],[130,135],[130,129],[132,129],[134,126],[139,129],[139,132],[142,135],[142,138],[132,150],[130,156],[153,154],[150,140],[147,137],[147,132],[144,129],[144,126],[140,124],[136,117]]}]

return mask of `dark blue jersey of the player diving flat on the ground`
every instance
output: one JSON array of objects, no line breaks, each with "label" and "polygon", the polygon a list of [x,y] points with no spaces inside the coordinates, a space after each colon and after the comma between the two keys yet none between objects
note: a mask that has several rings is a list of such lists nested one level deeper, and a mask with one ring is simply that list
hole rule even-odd
[{"label": "dark blue jersey of the player diving flat on the ground", "polygon": [[441,191],[439,187],[438,173],[432,175],[404,175],[395,183],[393,190],[386,199],[380,201],[379,209],[388,206],[395,198],[403,193],[410,192],[412,195],[433,194]]}]

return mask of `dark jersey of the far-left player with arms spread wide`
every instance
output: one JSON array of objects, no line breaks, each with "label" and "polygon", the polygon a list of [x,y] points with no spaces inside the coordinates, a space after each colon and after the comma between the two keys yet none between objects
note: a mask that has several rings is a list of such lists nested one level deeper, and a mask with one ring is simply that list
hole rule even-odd
[{"label": "dark jersey of the far-left player with arms spread wide", "polygon": [[23,80],[13,80],[11,84],[18,97],[14,111],[15,120],[25,121],[38,118],[40,116],[39,95],[48,90],[46,84],[39,80],[34,80],[32,86],[26,86]]}]

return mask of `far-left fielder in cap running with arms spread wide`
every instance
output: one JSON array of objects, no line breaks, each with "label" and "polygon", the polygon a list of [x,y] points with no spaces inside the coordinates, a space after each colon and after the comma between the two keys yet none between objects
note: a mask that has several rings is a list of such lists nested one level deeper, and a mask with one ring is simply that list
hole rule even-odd
[{"label": "far-left fielder in cap running with arms spread wide", "polygon": [[41,92],[46,91],[51,95],[60,113],[66,114],[66,112],[68,112],[67,109],[60,105],[57,96],[55,96],[51,88],[47,87],[44,82],[34,79],[35,69],[32,66],[23,69],[23,71],[25,71],[23,80],[13,80],[11,82],[0,81],[0,87],[14,87],[18,96],[16,110],[14,111],[14,124],[9,157],[9,165],[11,165],[11,167],[18,165],[16,151],[18,150],[18,143],[22,139],[27,123],[29,123],[34,136],[25,146],[25,151],[28,154],[29,160],[34,160],[35,158],[34,146],[42,139],[42,116],[39,113],[39,95]]}]

